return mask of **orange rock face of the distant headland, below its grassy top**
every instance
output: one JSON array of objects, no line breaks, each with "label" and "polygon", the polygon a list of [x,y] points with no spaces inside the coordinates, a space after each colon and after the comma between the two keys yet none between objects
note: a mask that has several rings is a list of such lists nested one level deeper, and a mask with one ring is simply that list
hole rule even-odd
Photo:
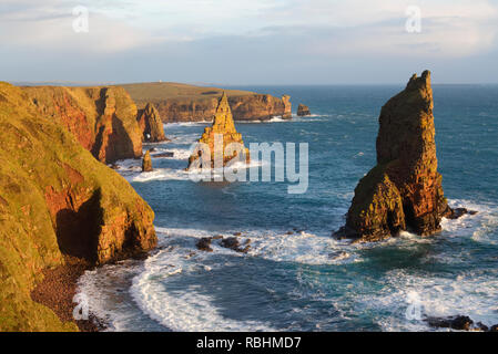
[{"label": "orange rock face of the distant headland, below its grassy top", "polygon": [[[235,121],[268,121],[275,116],[292,117],[291,97],[266,94],[228,96]],[[154,101],[163,122],[210,122],[216,114],[217,98],[167,98]]]}]

